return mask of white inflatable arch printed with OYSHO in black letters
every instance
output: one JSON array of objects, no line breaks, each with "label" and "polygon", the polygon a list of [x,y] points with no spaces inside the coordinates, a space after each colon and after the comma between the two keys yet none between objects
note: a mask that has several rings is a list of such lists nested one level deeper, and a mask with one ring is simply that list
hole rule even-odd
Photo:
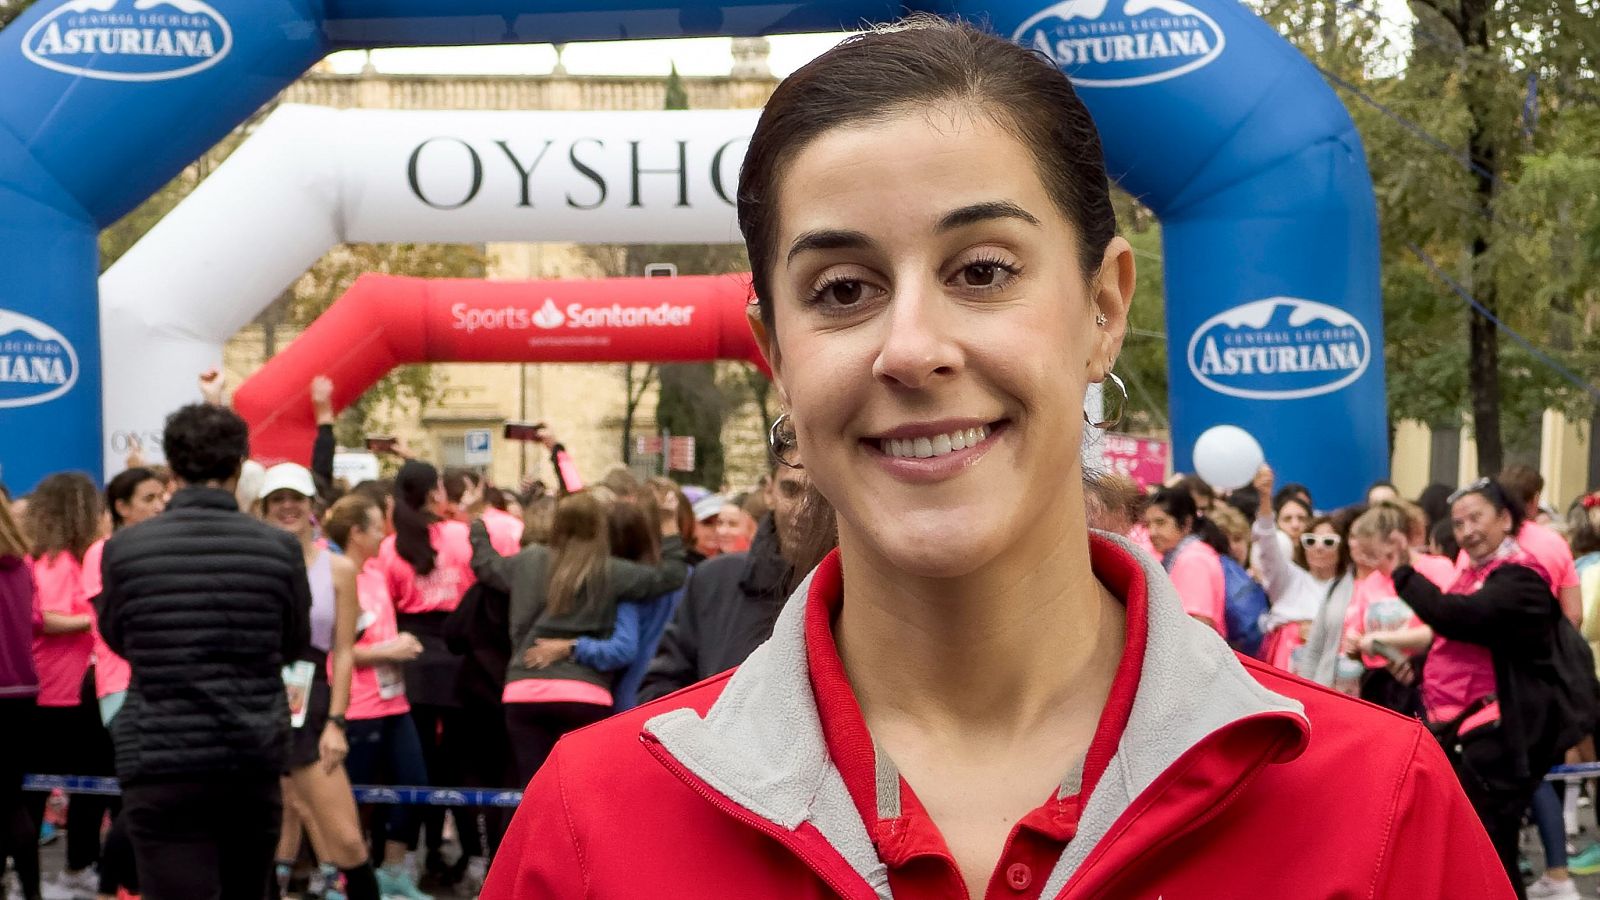
[{"label": "white inflatable arch printed with OYSHO in black letters", "polygon": [[101,275],[107,476],[338,243],[739,242],[758,114],[278,107]]}]

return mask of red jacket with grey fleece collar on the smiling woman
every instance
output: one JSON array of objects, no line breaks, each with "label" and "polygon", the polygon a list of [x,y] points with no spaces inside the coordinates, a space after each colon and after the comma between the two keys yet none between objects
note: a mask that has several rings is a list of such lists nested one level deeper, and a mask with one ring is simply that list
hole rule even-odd
[{"label": "red jacket with grey fleece collar on the smiling woman", "polygon": [[[1126,588],[1142,665],[1075,836],[1027,894],[1512,897],[1418,722],[1237,657],[1126,544],[1096,538],[1094,569]],[[835,556],[736,673],[568,735],[482,897],[891,897],[882,823],[840,773],[861,761],[829,757],[808,677],[805,607],[837,589]]]}]

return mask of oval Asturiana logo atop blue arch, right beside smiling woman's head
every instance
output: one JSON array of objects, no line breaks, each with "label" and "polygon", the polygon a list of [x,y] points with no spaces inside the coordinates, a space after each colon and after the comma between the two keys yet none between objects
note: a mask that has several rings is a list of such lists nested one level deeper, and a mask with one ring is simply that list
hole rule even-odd
[{"label": "oval Asturiana logo atop blue arch, right beside smiling woman's head", "polygon": [[[1122,3],[1122,11],[1109,11]],[[1182,0],[1062,0],[1011,40],[1051,58],[1072,83],[1130,88],[1176,78],[1222,54],[1216,19]]]}]

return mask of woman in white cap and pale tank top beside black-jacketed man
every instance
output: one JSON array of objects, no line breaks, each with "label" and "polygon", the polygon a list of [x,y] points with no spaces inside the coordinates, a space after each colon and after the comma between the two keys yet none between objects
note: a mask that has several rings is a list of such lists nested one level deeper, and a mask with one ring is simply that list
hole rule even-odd
[{"label": "woman in white cap and pale tank top beside black-jacketed man", "polygon": [[344,772],[349,753],[344,714],[350,705],[355,621],[360,617],[355,565],[317,540],[312,522],[317,482],[304,466],[272,466],[258,496],[267,524],[299,540],[312,597],[310,644],[283,668],[294,737],[283,778],[290,815],[283,817],[278,842],[278,884],[286,887],[286,876],[299,855],[304,822],[322,860],[318,874],[325,890],[336,887],[342,873],[344,894],[350,900],[378,900],[378,878]]}]

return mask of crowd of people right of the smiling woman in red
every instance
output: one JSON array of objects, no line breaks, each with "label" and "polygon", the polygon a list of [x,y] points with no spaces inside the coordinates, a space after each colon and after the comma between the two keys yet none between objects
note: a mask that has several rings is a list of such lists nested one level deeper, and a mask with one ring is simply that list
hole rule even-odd
[{"label": "crowd of people right of the smiling woman in red", "polygon": [[1600,493],[1562,514],[1528,466],[1414,501],[1384,480],[1328,511],[1269,466],[1226,495],[1192,474],[1101,487],[1101,522],[1158,557],[1184,610],[1235,650],[1427,722],[1528,881],[1531,817],[1546,860],[1528,897],[1574,898],[1571,874],[1600,873],[1600,844],[1568,858],[1579,781],[1563,804],[1544,780],[1595,761]]}]

